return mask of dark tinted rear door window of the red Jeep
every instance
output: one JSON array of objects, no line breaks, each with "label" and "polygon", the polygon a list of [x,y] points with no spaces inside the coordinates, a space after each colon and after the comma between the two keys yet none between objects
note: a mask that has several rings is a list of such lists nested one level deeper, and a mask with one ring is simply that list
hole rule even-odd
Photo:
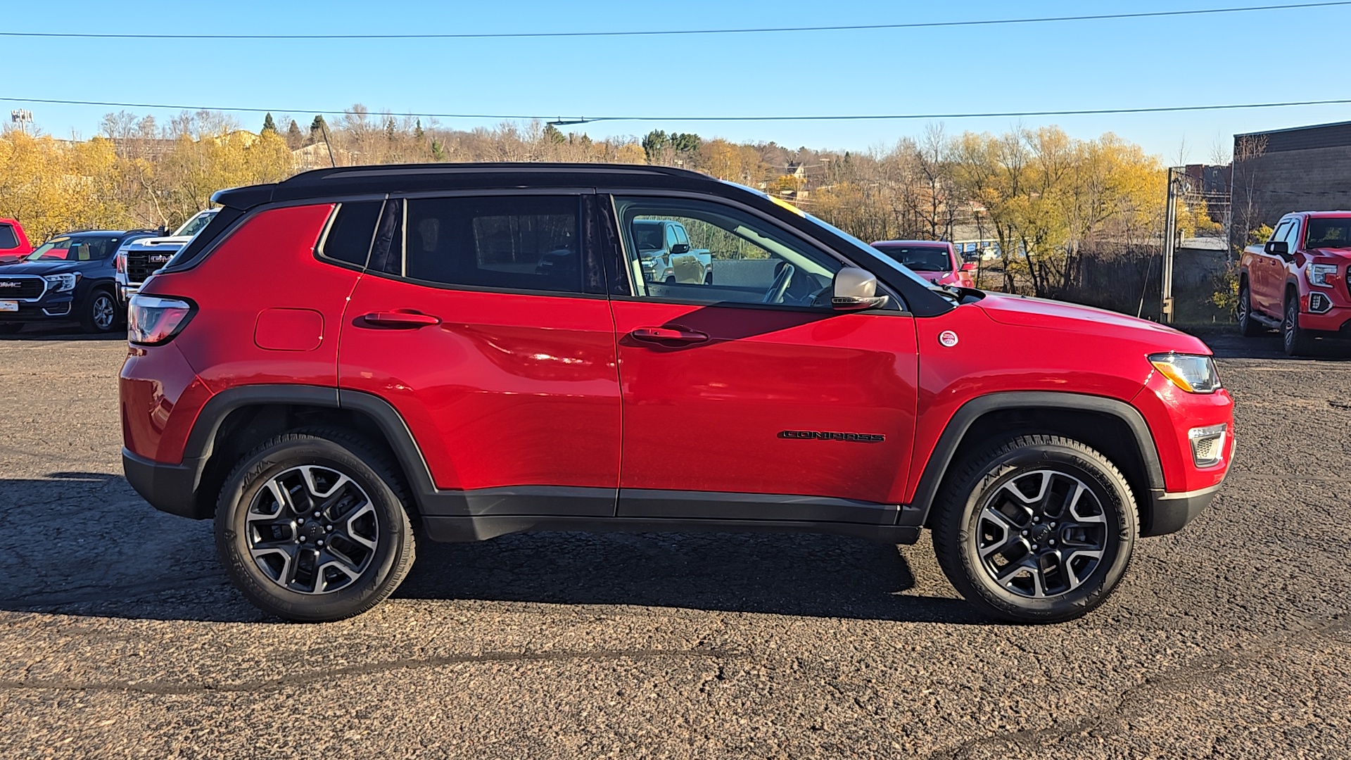
[{"label": "dark tinted rear door window of the red Jeep", "polygon": [[405,203],[405,277],[449,285],[582,292],[577,197],[438,197]]}]

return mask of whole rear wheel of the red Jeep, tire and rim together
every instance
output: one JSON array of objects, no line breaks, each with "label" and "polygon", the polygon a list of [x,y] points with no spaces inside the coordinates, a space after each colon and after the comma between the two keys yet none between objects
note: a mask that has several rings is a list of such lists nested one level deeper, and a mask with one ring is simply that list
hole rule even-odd
[{"label": "whole rear wheel of the red Jeep, tire and rim together", "polygon": [[[226,479],[216,552],[235,587],[267,614],[297,622],[359,615],[393,594],[413,564],[400,483],[389,457],[347,430],[277,435]],[[313,499],[326,504],[317,518]]]}]

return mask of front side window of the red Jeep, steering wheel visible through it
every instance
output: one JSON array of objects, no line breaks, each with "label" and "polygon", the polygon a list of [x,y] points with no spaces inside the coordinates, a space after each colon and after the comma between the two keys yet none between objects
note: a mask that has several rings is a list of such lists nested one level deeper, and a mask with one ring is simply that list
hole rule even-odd
[{"label": "front side window of the red Jeep, steering wheel visible through it", "polygon": [[[694,303],[830,307],[844,264],[751,214],[719,203],[616,197],[630,277],[640,296]],[[665,223],[665,224],[662,224]],[[689,250],[662,256],[648,230],[671,234]]]}]

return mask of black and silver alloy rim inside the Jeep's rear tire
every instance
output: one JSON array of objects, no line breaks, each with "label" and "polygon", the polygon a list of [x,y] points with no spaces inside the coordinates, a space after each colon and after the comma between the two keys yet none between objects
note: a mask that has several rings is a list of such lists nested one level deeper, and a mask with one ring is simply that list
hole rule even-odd
[{"label": "black and silver alloy rim inside the Jeep's rear tire", "polygon": [[336,469],[301,465],[267,480],[246,515],[249,553],[273,583],[332,594],[370,567],[380,522],[366,491]]}]

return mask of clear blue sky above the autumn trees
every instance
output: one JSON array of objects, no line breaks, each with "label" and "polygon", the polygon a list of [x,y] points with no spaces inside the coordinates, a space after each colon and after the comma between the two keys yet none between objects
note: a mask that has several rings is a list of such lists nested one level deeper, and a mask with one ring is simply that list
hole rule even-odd
[{"label": "clear blue sky above the autumn trees", "polygon": [[[1289,0],[1098,3],[11,3],[7,31],[350,34],[611,31],[1170,11]],[[1317,30],[1343,30],[1316,41]],[[1351,5],[1169,19],[704,37],[473,41],[0,39],[0,96],[308,110],[597,115],[827,115],[1036,111],[1348,97],[1340,46]],[[0,101],[46,133],[91,137],[116,108]],[[151,112],[139,110],[141,112]],[[172,112],[154,112],[168,118]],[[257,130],[262,114],[240,114]],[[1351,105],[1155,115],[947,119],[950,133],[1059,124],[1105,131],[1174,162],[1210,160],[1235,133],[1351,120]],[[447,127],[492,122],[442,119]],[[924,122],[601,122],[593,137],[653,128],[861,150]]]}]

